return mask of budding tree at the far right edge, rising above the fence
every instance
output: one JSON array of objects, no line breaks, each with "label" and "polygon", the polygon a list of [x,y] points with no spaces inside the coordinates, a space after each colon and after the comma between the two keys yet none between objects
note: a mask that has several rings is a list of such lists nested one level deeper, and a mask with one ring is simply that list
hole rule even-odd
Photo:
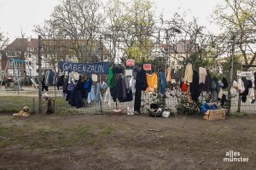
[{"label": "budding tree at the far right edge, rising above the fence", "polygon": [[[245,65],[253,65],[256,59],[256,8],[253,0],[225,0],[214,10],[214,20],[222,26],[225,35],[236,36]],[[229,39],[225,40],[226,42]]]}]

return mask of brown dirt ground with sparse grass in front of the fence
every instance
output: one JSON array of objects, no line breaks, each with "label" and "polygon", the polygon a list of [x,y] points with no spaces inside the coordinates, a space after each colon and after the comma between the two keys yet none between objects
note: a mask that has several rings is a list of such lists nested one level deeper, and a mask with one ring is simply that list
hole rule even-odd
[{"label": "brown dirt ground with sparse grass in front of the fence", "polygon": [[[248,162],[224,162],[239,151]],[[0,169],[255,169],[256,116],[0,116]]]}]

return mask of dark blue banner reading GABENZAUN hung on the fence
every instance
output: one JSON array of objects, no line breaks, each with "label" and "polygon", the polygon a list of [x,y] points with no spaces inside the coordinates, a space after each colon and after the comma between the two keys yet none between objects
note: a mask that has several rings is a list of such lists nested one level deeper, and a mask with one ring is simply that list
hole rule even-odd
[{"label": "dark blue banner reading GABENZAUN hung on the fence", "polygon": [[108,74],[109,62],[71,63],[66,61],[60,61],[59,69],[61,69],[61,71],[76,71],[80,74]]}]

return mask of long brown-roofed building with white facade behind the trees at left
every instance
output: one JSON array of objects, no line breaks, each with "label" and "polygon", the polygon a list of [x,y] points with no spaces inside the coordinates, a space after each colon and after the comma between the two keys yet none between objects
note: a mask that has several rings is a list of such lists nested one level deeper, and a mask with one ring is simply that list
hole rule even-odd
[{"label": "long brown-roofed building with white facade behind the trees at left", "polygon": [[[58,62],[66,60],[70,62],[96,62],[108,60],[108,49],[99,41],[72,41],[67,39],[42,39],[42,71],[58,71]],[[87,47],[86,47],[87,45]],[[90,45],[90,47],[88,47]],[[101,48],[100,48],[101,47]],[[1,67],[5,71],[8,59],[21,59],[26,61],[25,70],[16,65],[18,69],[15,73],[8,70],[8,76],[26,74],[26,76],[38,77],[38,39],[36,38],[16,38],[7,48],[2,51]],[[9,62],[9,67],[14,64]]]}]

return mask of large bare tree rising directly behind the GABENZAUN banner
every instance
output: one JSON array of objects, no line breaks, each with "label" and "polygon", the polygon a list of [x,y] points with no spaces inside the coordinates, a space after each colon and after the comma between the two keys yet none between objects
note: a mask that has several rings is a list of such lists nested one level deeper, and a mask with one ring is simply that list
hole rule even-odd
[{"label": "large bare tree rising directly behind the GABENZAUN banner", "polygon": [[45,21],[46,27],[36,26],[36,31],[69,40],[68,48],[79,61],[96,61],[96,40],[104,23],[101,8],[98,0],[64,0]]}]

